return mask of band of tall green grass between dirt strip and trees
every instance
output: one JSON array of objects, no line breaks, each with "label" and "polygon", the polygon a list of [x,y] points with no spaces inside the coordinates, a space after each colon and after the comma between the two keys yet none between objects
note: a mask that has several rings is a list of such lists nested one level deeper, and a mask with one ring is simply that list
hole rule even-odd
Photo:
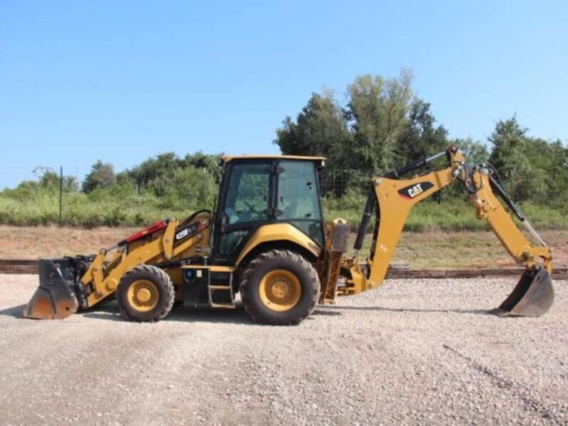
[{"label": "band of tall green grass between dirt strip and trees", "polygon": [[[184,205],[187,205],[184,208]],[[206,203],[210,204],[210,203]],[[353,225],[361,219],[365,197],[348,193],[342,198],[324,198],[323,209],[326,220],[344,218]],[[527,218],[537,228],[567,229],[568,206],[551,208],[524,204],[521,206]],[[66,193],[64,194],[63,221],[66,225],[96,226],[138,226],[152,223],[161,218],[185,218],[191,211],[203,206],[188,199],[179,203],[168,203],[162,197],[151,193],[128,192]],[[387,212],[382,212],[383,215]],[[59,220],[59,196],[56,191],[34,191],[25,198],[14,198],[0,194],[0,224],[6,225],[49,225]],[[461,198],[418,204],[410,213],[405,230],[478,230],[487,229],[485,220],[475,217],[475,209]]]}]

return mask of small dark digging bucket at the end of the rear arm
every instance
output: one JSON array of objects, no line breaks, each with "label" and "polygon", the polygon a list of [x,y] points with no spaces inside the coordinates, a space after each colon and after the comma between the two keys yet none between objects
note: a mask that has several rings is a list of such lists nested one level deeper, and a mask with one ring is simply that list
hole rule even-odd
[{"label": "small dark digging bucket at the end of the rear arm", "polygon": [[497,315],[539,317],[554,302],[554,289],[544,268],[525,270],[513,292],[495,310]]}]

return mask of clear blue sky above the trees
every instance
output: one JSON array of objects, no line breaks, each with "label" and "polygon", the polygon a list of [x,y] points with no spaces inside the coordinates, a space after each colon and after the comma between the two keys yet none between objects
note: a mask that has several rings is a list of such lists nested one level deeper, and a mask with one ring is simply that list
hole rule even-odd
[{"label": "clear blue sky above the trees", "polygon": [[0,0],[0,188],[150,156],[278,153],[311,93],[413,88],[451,137],[568,139],[568,2]]}]

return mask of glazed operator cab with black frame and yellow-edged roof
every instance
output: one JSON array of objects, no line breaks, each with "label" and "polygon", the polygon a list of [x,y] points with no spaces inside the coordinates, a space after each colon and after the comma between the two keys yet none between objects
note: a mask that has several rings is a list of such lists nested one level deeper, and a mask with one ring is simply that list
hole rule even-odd
[{"label": "glazed operator cab with black frame and yellow-edged roof", "polygon": [[215,207],[215,263],[232,263],[255,230],[290,223],[323,248],[318,168],[324,158],[223,157]]}]

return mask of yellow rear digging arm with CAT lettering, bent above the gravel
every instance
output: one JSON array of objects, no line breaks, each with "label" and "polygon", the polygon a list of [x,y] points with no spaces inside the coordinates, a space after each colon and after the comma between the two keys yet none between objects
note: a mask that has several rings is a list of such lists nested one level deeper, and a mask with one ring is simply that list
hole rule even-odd
[{"label": "yellow rear digging arm with CAT lettering, bent above the gravel", "polygon": [[[372,179],[372,191],[365,206],[363,220],[355,240],[355,257],[343,260],[341,267],[344,271],[348,271],[346,274],[348,278],[345,281],[345,286],[338,288],[338,293],[340,295],[357,294],[380,286],[385,279],[412,207],[454,181],[460,181],[465,186],[470,203],[477,211],[477,218],[487,220],[490,228],[497,235],[509,255],[514,258],[515,262],[524,265],[527,270],[517,285],[517,288],[522,287],[521,290],[524,291],[517,291],[516,288],[513,292],[517,293],[515,297],[509,297],[508,302],[505,300],[502,308],[509,308],[507,310],[511,311],[514,308],[512,305],[519,303],[519,300],[516,300],[517,298],[522,299],[525,294],[531,293],[529,289],[533,282],[544,281],[540,289],[544,289],[541,292],[543,293],[543,300],[540,300],[542,303],[534,302],[532,305],[533,307],[534,305],[541,305],[539,312],[542,311],[541,308],[544,308],[545,312],[549,305],[552,305],[552,298],[554,297],[549,279],[549,274],[552,273],[551,250],[544,245],[542,239],[532,229],[517,206],[514,206],[514,203],[509,200],[502,188],[495,181],[492,181],[491,171],[487,166],[466,164],[465,158],[457,146],[450,146],[445,154],[448,166],[442,170],[432,171],[410,179],[399,178],[403,173],[425,166],[436,158],[440,158],[442,156],[440,154]],[[517,214],[522,223],[527,225],[527,228],[541,245],[531,245],[529,240],[525,238],[495,196],[492,186],[497,188],[499,196],[504,198],[509,208]],[[357,253],[362,247],[365,228],[373,211],[376,218],[370,257],[360,259],[357,257]],[[522,315],[518,310],[515,314]],[[539,313],[539,315],[541,314]]]}]

